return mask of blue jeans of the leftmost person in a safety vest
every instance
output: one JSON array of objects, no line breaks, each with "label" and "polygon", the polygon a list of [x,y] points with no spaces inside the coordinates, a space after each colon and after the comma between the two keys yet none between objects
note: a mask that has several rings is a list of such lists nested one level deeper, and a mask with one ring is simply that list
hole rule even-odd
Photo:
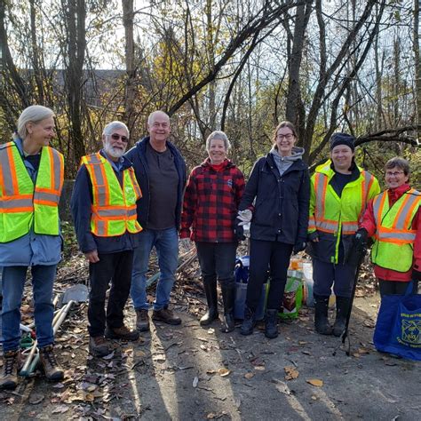
[{"label": "blue jeans of the leftmost person in a safety vest", "polygon": [[[57,265],[31,266],[32,288],[35,302],[36,339],[38,347],[44,348],[54,342],[52,334],[52,284]],[[20,305],[27,275],[27,266],[4,266],[3,268],[3,349],[4,352],[19,349]]]}]

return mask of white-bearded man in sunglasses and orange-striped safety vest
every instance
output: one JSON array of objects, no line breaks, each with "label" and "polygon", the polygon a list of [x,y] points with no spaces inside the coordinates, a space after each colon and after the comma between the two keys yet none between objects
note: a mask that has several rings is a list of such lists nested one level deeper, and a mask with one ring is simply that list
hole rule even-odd
[{"label": "white-bearded man in sunglasses and orange-striped safety vest", "polygon": [[96,356],[111,353],[107,339],[139,338],[138,331],[128,329],[123,322],[133,249],[139,245],[142,230],[136,214],[139,184],[131,162],[123,156],[129,143],[127,126],[108,123],[102,143],[97,154],[83,156],[71,200],[77,242],[89,261],[89,350]]}]

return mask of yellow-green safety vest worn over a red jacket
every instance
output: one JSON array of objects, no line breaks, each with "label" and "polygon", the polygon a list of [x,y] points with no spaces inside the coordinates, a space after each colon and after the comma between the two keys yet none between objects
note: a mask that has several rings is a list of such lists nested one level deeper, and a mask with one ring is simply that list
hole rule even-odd
[{"label": "yellow-green safety vest worn over a red jacket", "polygon": [[401,195],[392,207],[389,207],[387,190],[375,197],[373,213],[377,231],[371,250],[373,263],[398,272],[409,271],[417,234],[411,226],[420,205],[421,194],[413,188]]}]

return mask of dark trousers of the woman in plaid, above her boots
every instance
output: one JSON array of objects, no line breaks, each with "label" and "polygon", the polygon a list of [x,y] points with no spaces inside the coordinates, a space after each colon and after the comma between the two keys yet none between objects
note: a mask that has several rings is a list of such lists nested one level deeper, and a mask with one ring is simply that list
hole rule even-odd
[{"label": "dark trousers of the woman in plaid, above her boots", "polygon": [[234,285],[236,242],[196,242],[203,282]]}]

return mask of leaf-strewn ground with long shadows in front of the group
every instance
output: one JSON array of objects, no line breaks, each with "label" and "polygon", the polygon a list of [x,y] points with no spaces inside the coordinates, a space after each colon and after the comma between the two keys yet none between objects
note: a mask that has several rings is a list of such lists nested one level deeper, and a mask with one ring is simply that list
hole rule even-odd
[{"label": "leaf-strewn ground with long shadows in front of the group", "polygon": [[[419,419],[421,365],[373,350],[376,298],[357,298],[351,356],[313,330],[313,310],[282,323],[279,338],[242,337],[199,326],[191,299],[175,305],[183,324],[152,324],[113,358],[87,352],[86,317],[75,313],[58,339],[67,380],[37,376],[0,394],[13,419]],[[134,314],[127,313],[131,322]],[[188,308],[188,311],[187,311]],[[67,332],[67,333],[66,333]],[[335,356],[334,351],[337,350]],[[297,378],[287,380],[285,368]],[[315,384],[309,383],[316,380]],[[321,382],[319,382],[322,381]]]}]

